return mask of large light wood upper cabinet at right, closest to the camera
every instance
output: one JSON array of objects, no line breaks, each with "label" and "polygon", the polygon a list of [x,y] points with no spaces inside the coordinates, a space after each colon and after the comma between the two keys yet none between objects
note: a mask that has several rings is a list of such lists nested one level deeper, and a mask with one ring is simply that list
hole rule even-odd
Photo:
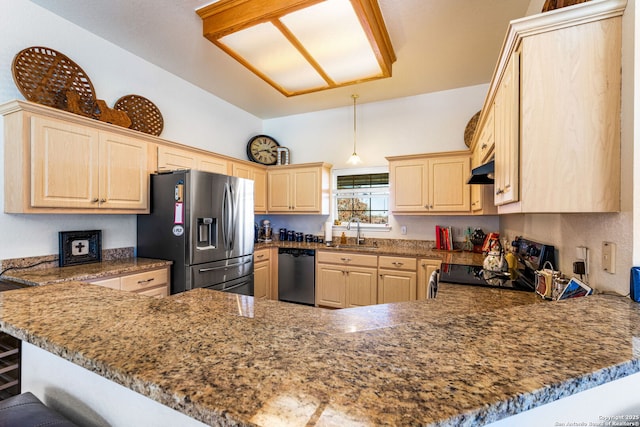
[{"label": "large light wood upper cabinet at right, closest to the camera", "polygon": [[511,22],[472,143],[495,108],[498,213],[620,210],[625,7],[586,2]]}]

